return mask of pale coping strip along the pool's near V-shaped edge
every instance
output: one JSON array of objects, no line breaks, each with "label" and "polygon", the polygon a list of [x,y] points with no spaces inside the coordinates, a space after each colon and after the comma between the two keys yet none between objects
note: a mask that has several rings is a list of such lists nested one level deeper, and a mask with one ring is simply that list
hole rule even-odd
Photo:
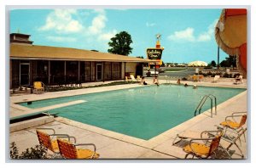
[{"label": "pale coping strip along the pool's near V-shaped edge", "polygon": [[[237,94],[235,97],[230,98],[230,99],[228,99],[227,101],[225,101],[221,104],[218,104],[217,109],[225,108],[226,106],[228,106],[232,102],[236,101],[237,98],[241,98],[244,95],[247,95],[247,90]],[[204,120],[206,118],[211,118],[210,115],[206,115],[207,113],[209,113],[208,109],[206,111],[202,112],[200,115],[196,115],[195,117],[193,117],[189,120],[186,120],[183,123],[172,127],[171,129],[167,130],[166,132],[162,132],[159,135],[157,135],[155,137],[152,137],[148,140],[144,140],[144,139],[141,139],[141,138],[138,138],[138,137],[131,137],[131,136],[119,133],[119,132],[109,131],[107,129],[100,128],[98,126],[91,126],[91,125],[84,124],[84,123],[79,122],[79,121],[69,120],[69,119],[61,117],[61,116],[58,116],[57,118],[55,118],[55,120],[59,121],[61,123],[65,123],[65,124],[70,125],[70,126],[76,126],[76,127],[81,128],[81,129],[85,129],[85,130],[90,131],[90,132],[95,132],[95,133],[100,134],[102,136],[111,137],[113,139],[123,141],[125,143],[131,143],[131,144],[143,147],[143,148],[154,149],[155,147],[157,147],[161,143],[166,142],[166,140],[174,139],[177,136],[177,133],[183,132],[183,130],[189,128],[190,126],[195,126],[201,120]],[[214,115],[213,115],[213,117],[214,117]],[[183,127],[183,128],[180,128],[180,127]]]}]

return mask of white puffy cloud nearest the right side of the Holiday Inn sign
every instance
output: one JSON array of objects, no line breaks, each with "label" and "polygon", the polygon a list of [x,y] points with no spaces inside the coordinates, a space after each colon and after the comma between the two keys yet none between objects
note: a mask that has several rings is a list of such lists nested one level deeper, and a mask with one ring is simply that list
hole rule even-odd
[{"label": "white puffy cloud nearest the right side of the Holiday Inn sign", "polygon": [[171,41],[188,41],[195,42],[194,29],[188,27],[183,31],[175,31],[172,35],[168,36]]}]

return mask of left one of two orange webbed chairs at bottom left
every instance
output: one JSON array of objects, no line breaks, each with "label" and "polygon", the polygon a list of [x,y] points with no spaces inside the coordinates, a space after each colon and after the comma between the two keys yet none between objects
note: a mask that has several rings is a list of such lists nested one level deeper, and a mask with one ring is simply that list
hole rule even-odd
[{"label": "left one of two orange webbed chairs at bottom left", "polygon": [[37,128],[36,132],[38,135],[39,144],[55,153],[53,157],[55,157],[56,154],[60,154],[56,137],[67,137],[69,141],[70,138],[75,139],[75,137],[70,137],[67,134],[55,134],[55,130],[52,128]]}]

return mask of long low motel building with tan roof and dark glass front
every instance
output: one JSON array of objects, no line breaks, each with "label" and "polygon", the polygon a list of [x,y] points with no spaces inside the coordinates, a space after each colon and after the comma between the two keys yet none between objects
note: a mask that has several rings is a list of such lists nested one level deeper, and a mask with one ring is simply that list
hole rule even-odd
[{"label": "long low motel building with tan roof and dark glass front", "polygon": [[10,89],[32,87],[33,81],[54,86],[125,80],[131,74],[143,76],[143,63],[153,62],[84,49],[33,45],[29,37],[10,34]]}]

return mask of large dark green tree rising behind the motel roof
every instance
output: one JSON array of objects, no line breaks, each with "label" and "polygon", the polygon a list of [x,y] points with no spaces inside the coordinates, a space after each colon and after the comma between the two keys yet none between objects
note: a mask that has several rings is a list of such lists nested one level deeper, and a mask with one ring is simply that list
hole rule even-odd
[{"label": "large dark green tree rising behind the motel roof", "polygon": [[130,44],[132,43],[131,35],[126,31],[121,31],[111,39],[111,42],[108,42],[109,49],[108,53],[115,53],[120,55],[129,55],[131,53],[132,48]]}]

